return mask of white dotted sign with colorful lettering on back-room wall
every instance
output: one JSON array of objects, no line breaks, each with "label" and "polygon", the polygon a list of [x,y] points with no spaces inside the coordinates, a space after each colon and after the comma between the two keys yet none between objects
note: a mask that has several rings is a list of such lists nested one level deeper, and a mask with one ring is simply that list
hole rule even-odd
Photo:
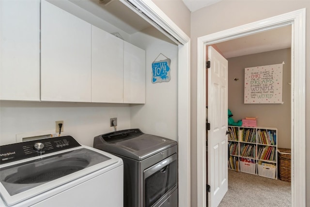
[{"label": "white dotted sign with colorful lettering on back-room wall", "polygon": [[245,68],[244,103],[282,103],[282,77],[283,64]]}]

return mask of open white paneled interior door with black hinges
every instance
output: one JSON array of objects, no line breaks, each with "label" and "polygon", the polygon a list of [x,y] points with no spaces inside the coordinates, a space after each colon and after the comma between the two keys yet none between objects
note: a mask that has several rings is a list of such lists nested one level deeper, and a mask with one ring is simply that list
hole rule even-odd
[{"label": "open white paneled interior door with black hinges", "polygon": [[211,46],[208,60],[208,204],[217,207],[228,189],[228,61]]}]

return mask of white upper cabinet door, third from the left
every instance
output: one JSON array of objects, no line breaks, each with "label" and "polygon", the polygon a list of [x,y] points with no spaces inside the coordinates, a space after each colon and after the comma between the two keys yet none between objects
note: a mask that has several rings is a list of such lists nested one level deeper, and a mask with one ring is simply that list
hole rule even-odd
[{"label": "white upper cabinet door, third from the left", "polygon": [[123,103],[123,42],[92,25],[92,102]]}]

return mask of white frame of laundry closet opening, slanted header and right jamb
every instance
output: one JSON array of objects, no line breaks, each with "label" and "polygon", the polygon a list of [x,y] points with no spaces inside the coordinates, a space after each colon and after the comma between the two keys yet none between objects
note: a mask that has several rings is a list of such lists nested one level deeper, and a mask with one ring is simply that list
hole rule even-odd
[{"label": "white frame of laundry closet opening, slanted header and right jamb", "polygon": [[120,0],[178,44],[179,207],[190,206],[190,38],[151,0]]}]

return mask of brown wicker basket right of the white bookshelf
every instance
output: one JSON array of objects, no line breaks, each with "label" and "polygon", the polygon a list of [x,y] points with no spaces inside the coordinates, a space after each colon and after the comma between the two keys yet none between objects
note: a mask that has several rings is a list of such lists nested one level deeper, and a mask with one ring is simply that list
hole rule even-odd
[{"label": "brown wicker basket right of the white bookshelf", "polygon": [[291,149],[278,148],[279,178],[291,182]]}]

